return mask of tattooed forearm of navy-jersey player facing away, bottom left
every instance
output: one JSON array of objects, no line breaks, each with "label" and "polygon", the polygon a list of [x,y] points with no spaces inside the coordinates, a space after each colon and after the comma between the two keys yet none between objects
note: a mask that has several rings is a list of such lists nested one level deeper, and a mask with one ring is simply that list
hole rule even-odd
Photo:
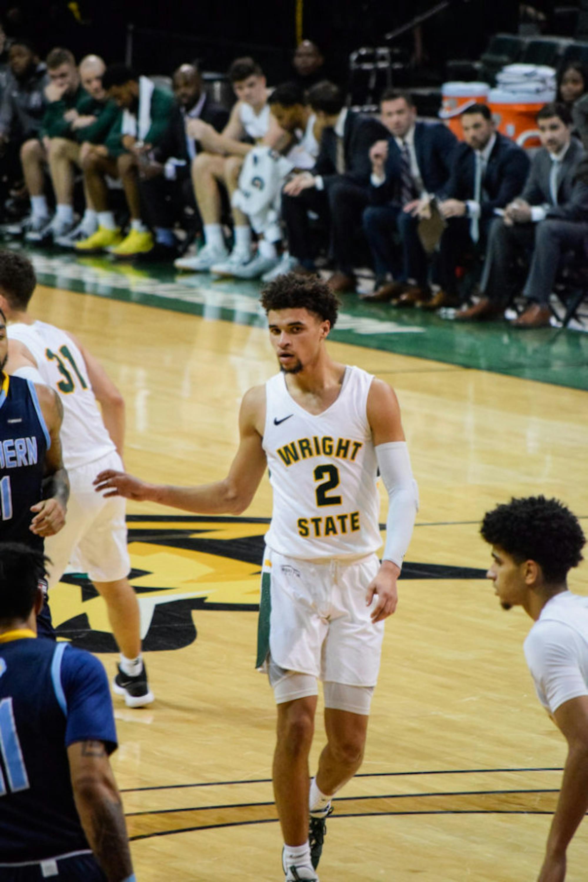
[{"label": "tattooed forearm of navy-jersey player facing away, bottom left", "polygon": [[86,839],[108,882],[129,878],[133,867],[118,791],[106,781],[82,781],[74,789],[74,796]]}]

